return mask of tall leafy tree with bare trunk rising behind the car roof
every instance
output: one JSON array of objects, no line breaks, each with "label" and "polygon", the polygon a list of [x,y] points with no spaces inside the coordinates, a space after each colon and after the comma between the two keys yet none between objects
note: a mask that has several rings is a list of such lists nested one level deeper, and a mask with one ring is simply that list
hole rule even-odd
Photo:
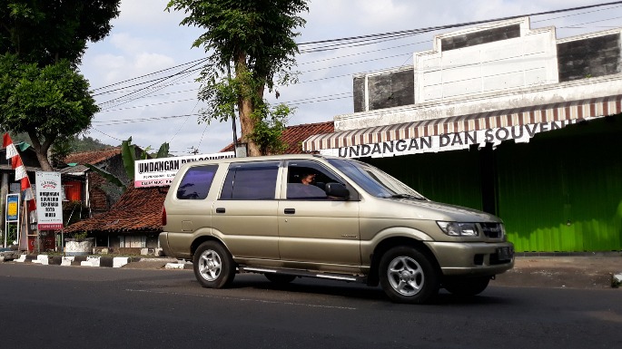
[{"label": "tall leafy tree with bare trunk rising behind the car roof", "polygon": [[268,105],[264,92],[272,92],[275,83],[295,81],[294,38],[300,33],[294,29],[306,23],[297,14],[309,11],[307,1],[171,0],[166,9],[184,11],[188,16],[181,24],[206,29],[193,42],[193,47],[203,46],[210,53],[201,75],[199,99],[208,102],[202,120],[227,121],[236,108],[249,155],[260,155],[253,137],[257,123],[268,120],[270,125],[284,110]]}]

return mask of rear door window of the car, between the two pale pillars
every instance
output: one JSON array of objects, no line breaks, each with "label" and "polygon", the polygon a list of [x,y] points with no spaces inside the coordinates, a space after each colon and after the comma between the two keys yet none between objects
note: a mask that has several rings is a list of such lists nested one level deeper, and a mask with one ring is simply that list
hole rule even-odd
[{"label": "rear door window of the car, between the two pale pillars", "polygon": [[222,185],[222,200],[274,199],[279,162],[232,163]]}]

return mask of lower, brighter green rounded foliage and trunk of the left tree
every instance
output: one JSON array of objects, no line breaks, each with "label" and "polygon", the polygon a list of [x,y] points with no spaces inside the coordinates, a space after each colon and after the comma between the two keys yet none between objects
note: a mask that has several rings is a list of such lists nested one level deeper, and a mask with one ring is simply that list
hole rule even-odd
[{"label": "lower, brighter green rounded foliage and trunk of the left tree", "polygon": [[0,56],[0,123],[28,134],[43,170],[53,170],[47,154],[54,141],[86,130],[99,107],[88,82],[62,60],[39,68],[15,54]]}]

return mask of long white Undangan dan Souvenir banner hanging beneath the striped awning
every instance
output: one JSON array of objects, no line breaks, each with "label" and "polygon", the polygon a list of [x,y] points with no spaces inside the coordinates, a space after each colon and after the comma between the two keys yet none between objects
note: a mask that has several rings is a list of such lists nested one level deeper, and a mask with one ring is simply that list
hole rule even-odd
[{"label": "long white Undangan dan Souvenir banner hanging beneath the striped awning", "polygon": [[496,147],[501,141],[514,140],[517,143],[528,142],[537,133],[563,129],[570,124],[592,119],[597,118],[538,122],[479,131],[446,133],[436,136],[411,138],[408,140],[384,141],[381,143],[359,144],[339,149],[320,150],[320,153],[322,155],[338,156],[341,158],[382,158],[423,152],[469,149],[473,144],[479,144],[481,148],[484,147],[486,143],[492,143],[493,146]]}]

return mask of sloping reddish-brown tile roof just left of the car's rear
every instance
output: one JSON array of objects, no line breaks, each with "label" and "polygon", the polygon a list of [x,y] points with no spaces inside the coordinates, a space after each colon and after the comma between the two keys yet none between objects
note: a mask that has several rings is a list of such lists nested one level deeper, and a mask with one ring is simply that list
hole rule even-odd
[{"label": "sloping reddish-brown tile roof just left of the car's rear", "polygon": [[162,208],[168,188],[129,188],[110,210],[72,224],[64,232],[162,232]]}]

